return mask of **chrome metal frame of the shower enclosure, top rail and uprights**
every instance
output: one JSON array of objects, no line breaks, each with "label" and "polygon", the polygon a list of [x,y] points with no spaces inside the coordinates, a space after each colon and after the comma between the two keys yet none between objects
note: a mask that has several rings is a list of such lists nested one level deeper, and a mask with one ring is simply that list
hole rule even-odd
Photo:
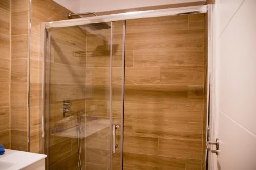
[{"label": "chrome metal frame of the shower enclosure, top rail and uprights", "polygon": [[[211,10],[211,6],[208,5],[208,8]],[[45,34],[46,34],[46,31],[47,29],[51,29],[51,28],[61,28],[61,27],[71,27],[71,26],[78,26],[78,25],[88,25],[88,24],[92,24],[92,23],[102,23],[102,22],[111,22],[111,35],[112,34],[112,30],[113,30],[113,21],[124,21],[123,23],[123,54],[122,54],[122,57],[123,57],[123,63],[122,63],[122,66],[123,66],[123,82],[122,82],[122,99],[123,99],[123,103],[122,103],[122,113],[124,111],[124,64],[125,64],[125,20],[129,20],[129,19],[140,19],[140,18],[153,18],[153,17],[161,17],[161,16],[170,16],[170,15],[184,15],[184,14],[193,14],[193,13],[206,13],[207,12],[207,5],[201,5],[201,6],[190,6],[190,7],[179,7],[179,8],[168,8],[168,9],[160,9],[160,10],[148,10],[148,11],[139,11],[139,12],[127,12],[127,13],[120,13],[120,14],[112,14],[112,15],[103,15],[103,16],[94,16],[94,17],[87,17],[87,18],[78,18],[78,19],[70,19],[70,20],[62,20],[62,21],[54,21],[54,22],[47,22],[47,23],[42,23],[43,26],[43,29],[45,31]],[[209,28],[212,28],[212,22],[209,22],[208,21],[208,29]],[[48,35],[49,36],[49,35]],[[212,36],[212,35],[211,35]],[[111,36],[112,37],[112,36]],[[209,35],[208,35],[209,37]],[[212,38],[212,37],[210,37]],[[208,40],[209,41],[209,40]],[[44,36],[44,43],[45,43],[45,48],[46,48],[46,36]],[[111,44],[112,44],[112,38],[111,38]],[[211,47],[212,49],[212,43],[211,43],[211,46],[208,44],[208,50],[209,48]],[[44,49],[45,50],[45,49]],[[210,51],[210,52],[209,52]],[[212,50],[209,50],[208,51],[208,66],[211,65],[211,60],[212,60],[212,55],[210,55],[210,53],[212,53]],[[49,54],[48,54],[49,55]],[[210,59],[211,57],[211,59]],[[111,45],[111,59],[112,59],[112,45]],[[44,52],[44,64],[46,64],[46,53]],[[211,67],[210,67],[211,68]],[[43,105],[45,107],[45,69],[46,69],[46,66],[44,65],[44,70],[43,70],[43,74],[44,74],[44,82],[43,82],[43,96],[44,96],[44,100],[43,100]],[[110,67],[111,69],[111,67]],[[110,70],[111,71],[111,70]],[[208,89],[210,88],[210,82],[212,81],[211,78],[210,78],[210,70],[208,68],[208,78],[210,79],[208,81]],[[110,76],[110,86],[111,86],[111,76]],[[112,98],[112,89],[110,87],[110,99]],[[209,94],[208,94],[209,95]],[[208,96],[209,98],[209,96]],[[209,107],[209,103],[208,103],[208,107]],[[111,113],[111,103],[110,103],[110,113]],[[43,116],[43,119],[42,121],[45,121],[46,120],[46,117],[45,117],[45,113],[46,113],[46,109],[44,109],[44,112],[42,114]],[[110,116],[110,123],[112,123],[112,118]],[[122,117],[121,117],[121,121],[123,123],[123,114],[122,114]],[[44,123],[42,124],[42,134],[43,134],[43,139],[44,139],[44,150],[45,150],[45,127],[47,125],[45,125]],[[112,126],[110,126],[112,127]],[[122,129],[123,131],[123,126],[122,126]],[[110,130],[110,133],[111,133],[111,130]],[[123,136],[121,137],[121,142],[123,143]],[[110,147],[112,147],[112,143],[110,142]],[[110,154],[112,154],[112,150],[110,148]],[[122,157],[123,155],[121,154],[121,163],[122,163]],[[48,161],[49,162],[49,161]],[[111,155],[110,155],[110,166],[111,166]],[[121,169],[122,169],[122,166],[121,166]]]}]

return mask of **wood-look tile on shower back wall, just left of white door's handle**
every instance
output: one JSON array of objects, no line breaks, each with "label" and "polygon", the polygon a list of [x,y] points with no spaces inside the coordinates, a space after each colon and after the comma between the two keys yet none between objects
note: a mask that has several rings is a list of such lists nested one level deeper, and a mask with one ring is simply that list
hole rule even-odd
[{"label": "wood-look tile on shower back wall, just left of white door's handle", "polygon": [[201,161],[202,141],[159,139],[158,154],[169,157],[198,159]]}]

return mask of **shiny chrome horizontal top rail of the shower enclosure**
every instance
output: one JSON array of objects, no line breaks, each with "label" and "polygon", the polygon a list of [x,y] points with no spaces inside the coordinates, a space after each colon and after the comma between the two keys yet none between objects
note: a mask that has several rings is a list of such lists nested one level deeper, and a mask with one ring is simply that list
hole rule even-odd
[{"label": "shiny chrome horizontal top rail of the shower enclosure", "polygon": [[92,16],[87,18],[69,19],[61,21],[46,22],[46,29],[70,27],[78,25],[87,25],[92,23],[112,22],[128,19],[140,19],[140,18],[152,18],[160,16],[170,15],[183,15],[192,13],[206,13],[207,5],[190,6],[190,7],[179,7],[179,8],[167,8],[159,10],[148,10],[148,11],[137,11],[137,12],[126,12],[120,14]]}]

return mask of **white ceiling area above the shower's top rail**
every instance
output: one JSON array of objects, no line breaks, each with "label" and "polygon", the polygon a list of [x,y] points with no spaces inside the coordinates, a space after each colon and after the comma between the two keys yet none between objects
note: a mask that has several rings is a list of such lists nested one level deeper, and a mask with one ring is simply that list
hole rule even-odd
[{"label": "white ceiling area above the shower's top rail", "polygon": [[54,0],[74,13],[102,12],[137,7],[201,2],[202,0]]}]

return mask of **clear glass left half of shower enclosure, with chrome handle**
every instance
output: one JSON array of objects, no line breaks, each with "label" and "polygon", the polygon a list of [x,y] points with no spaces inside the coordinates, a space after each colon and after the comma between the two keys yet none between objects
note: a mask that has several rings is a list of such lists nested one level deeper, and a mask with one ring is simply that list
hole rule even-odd
[{"label": "clear glass left half of shower enclosure, with chrome handle", "polygon": [[122,22],[47,30],[48,169],[122,167],[122,35]]}]

